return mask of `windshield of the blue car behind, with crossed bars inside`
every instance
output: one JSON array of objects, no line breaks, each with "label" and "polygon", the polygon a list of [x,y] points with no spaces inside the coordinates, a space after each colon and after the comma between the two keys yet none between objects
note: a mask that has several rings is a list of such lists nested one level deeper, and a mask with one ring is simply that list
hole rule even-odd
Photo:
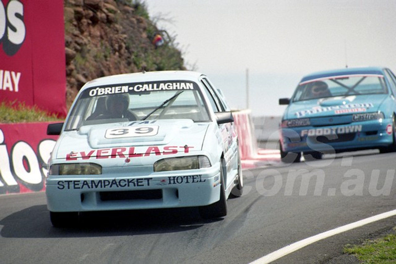
[{"label": "windshield of the blue car behind, with crossed bars inside", "polygon": [[292,101],[381,93],[387,93],[381,75],[331,76],[299,84]]}]

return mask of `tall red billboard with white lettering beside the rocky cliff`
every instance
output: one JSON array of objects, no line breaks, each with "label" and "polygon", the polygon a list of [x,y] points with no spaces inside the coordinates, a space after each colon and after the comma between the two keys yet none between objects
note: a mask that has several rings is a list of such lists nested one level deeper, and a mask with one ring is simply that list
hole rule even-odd
[{"label": "tall red billboard with white lettering beside the rocky cliff", "polygon": [[0,1],[0,101],[65,116],[63,1]]}]

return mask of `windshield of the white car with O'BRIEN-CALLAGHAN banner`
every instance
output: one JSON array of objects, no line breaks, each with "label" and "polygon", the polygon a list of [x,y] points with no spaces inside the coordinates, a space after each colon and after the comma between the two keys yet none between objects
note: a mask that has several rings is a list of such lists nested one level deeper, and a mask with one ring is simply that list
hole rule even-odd
[{"label": "windshield of the white car with O'BRIEN-CALLAGHAN banner", "polygon": [[176,80],[89,87],[70,110],[66,130],[83,125],[154,119],[209,121],[198,84]]}]

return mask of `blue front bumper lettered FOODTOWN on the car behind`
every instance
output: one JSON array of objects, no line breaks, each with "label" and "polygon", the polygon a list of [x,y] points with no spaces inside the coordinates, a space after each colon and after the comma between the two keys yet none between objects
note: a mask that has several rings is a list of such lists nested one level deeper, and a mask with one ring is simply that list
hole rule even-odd
[{"label": "blue front bumper lettered FOODTOWN on the car behind", "polygon": [[386,147],[393,142],[392,119],[346,125],[282,128],[284,152],[334,153],[352,149]]}]

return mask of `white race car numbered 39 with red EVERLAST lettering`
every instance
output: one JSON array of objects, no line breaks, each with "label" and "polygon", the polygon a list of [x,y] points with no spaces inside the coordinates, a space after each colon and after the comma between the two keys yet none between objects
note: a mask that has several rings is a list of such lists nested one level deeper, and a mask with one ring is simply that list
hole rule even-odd
[{"label": "white race car numbered 39 with red EVERLAST lettering", "polygon": [[228,196],[242,195],[232,113],[198,72],[92,80],[47,133],[60,135],[46,178],[53,226],[85,211],[199,207],[218,218]]}]

